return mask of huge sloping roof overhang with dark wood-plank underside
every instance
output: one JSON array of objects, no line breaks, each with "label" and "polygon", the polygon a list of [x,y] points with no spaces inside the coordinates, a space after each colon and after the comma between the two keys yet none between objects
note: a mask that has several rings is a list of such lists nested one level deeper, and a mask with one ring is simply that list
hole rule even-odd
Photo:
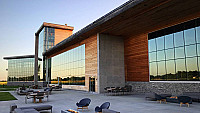
[{"label": "huge sloping roof overhang with dark wood-plank underside", "polygon": [[97,33],[126,38],[172,26],[172,21],[200,17],[199,4],[199,0],[130,0],[48,49],[43,55],[48,57],[59,53]]}]

